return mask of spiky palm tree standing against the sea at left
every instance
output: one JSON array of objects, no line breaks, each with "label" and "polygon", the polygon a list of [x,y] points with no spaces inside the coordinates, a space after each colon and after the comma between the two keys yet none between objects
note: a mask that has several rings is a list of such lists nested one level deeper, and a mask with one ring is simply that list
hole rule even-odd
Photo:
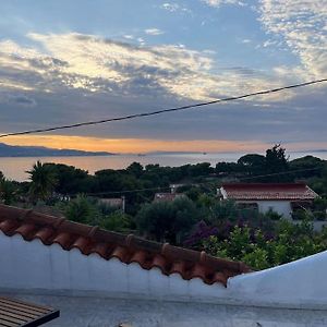
[{"label": "spiky palm tree standing against the sea at left", "polygon": [[58,183],[55,171],[49,165],[44,165],[38,160],[33,165],[33,169],[26,172],[29,173],[29,180],[32,181],[29,193],[33,201],[47,201]]}]

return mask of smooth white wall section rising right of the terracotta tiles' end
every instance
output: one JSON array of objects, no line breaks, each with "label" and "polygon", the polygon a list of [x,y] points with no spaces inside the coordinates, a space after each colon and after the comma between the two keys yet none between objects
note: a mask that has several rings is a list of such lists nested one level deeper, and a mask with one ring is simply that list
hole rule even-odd
[{"label": "smooth white wall section rising right of the terracotta tiles' end", "polygon": [[318,307],[327,304],[327,251],[270,269],[237,276],[228,289],[244,301]]}]

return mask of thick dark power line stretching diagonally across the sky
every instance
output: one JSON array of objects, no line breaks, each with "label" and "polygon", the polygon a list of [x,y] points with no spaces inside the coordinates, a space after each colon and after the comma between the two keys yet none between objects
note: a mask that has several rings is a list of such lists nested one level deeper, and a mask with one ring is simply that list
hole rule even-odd
[{"label": "thick dark power line stretching diagonally across the sky", "polygon": [[227,97],[227,98],[222,98],[222,99],[217,99],[217,100],[211,100],[211,101],[206,101],[206,102],[198,102],[198,104],[194,104],[194,105],[187,105],[187,106],[169,108],[169,109],[162,109],[162,110],[157,110],[157,111],[135,113],[135,114],[129,114],[129,116],[122,116],[122,117],[109,118],[109,119],[102,119],[102,120],[96,120],[96,121],[81,122],[81,123],[69,124],[69,125],[7,133],[7,134],[1,134],[0,138],[8,137],[8,136],[36,134],[36,133],[45,133],[45,132],[51,132],[51,131],[58,131],[58,130],[74,129],[74,128],[81,128],[81,126],[87,126],[87,125],[96,125],[96,124],[102,124],[102,123],[114,122],[114,121],[122,121],[122,120],[130,120],[130,119],[142,118],[142,117],[156,116],[156,114],[173,112],[173,111],[182,111],[182,110],[187,110],[187,109],[197,108],[197,107],[204,107],[204,106],[208,106],[208,105],[240,100],[240,99],[244,99],[244,98],[249,98],[249,97],[253,97],[253,96],[266,95],[266,94],[277,93],[277,92],[281,92],[281,90],[286,90],[286,89],[308,86],[308,85],[318,84],[318,83],[323,83],[323,82],[327,82],[327,78],[310,81],[310,82],[305,82],[305,83],[293,84],[293,85],[278,87],[278,88],[247,93],[247,94],[244,94],[241,96]]}]

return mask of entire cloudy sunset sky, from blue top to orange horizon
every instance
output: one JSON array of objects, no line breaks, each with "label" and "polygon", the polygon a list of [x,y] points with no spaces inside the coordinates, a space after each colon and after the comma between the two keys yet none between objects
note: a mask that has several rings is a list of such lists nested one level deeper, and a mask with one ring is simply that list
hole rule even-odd
[{"label": "entire cloudy sunset sky, from blue top to orange horizon", "polygon": [[[327,77],[327,0],[0,1],[0,133]],[[327,83],[161,116],[0,138],[143,153],[327,149]]]}]

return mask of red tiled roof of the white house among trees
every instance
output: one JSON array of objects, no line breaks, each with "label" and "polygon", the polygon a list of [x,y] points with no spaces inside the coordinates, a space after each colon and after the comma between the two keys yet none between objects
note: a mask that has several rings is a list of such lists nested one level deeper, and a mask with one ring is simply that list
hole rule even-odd
[{"label": "red tiled roof of the white house among trees", "polygon": [[222,184],[232,199],[314,199],[318,195],[304,183],[229,183]]}]

